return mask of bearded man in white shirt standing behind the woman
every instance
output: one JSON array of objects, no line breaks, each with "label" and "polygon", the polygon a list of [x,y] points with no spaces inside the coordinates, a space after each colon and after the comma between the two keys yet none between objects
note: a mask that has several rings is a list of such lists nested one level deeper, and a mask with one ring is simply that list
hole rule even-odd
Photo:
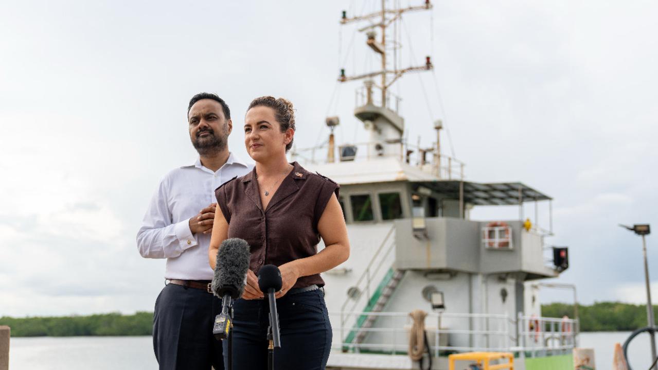
[{"label": "bearded man in white shirt standing behind the woman", "polygon": [[194,95],[188,106],[190,140],[199,159],[164,176],[137,234],[145,258],[166,258],[167,284],[155,301],[153,350],[160,369],[224,369],[213,320],[222,302],[207,288],[213,278],[208,245],[215,219],[214,190],[251,171],[228,151],[233,124],[215,94]]}]

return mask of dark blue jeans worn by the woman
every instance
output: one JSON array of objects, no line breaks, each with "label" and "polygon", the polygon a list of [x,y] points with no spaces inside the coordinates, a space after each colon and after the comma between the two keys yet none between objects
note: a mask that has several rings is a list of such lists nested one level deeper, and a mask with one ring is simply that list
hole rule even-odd
[{"label": "dark blue jeans worn by the woman", "polygon": [[[234,305],[233,369],[267,369],[267,300],[237,300]],[[321,290],[286,295],[276,300],[281,348],[274,349],[274,369],[324,370],[332,329]],[[228,365],[228,341],[224,340]],[[228,369],[228,367],[227,367]]]}]

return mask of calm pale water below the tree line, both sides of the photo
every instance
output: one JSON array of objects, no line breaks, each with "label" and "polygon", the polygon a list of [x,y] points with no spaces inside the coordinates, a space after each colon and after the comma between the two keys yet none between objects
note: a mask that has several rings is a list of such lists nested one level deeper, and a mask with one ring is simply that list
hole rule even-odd
[{"label": "calm pale water below the tree line, both sides of the photo", "polygon": [[[597,370],[611,370],[613,346],[628,332],[580,334],[580,346],[594,348]],[[12,338],[11,370],[157,369],[150,336],[78,336],[72,338]],[[633,370],[649,368],[649,335],[637,336],[628,351]]]}]

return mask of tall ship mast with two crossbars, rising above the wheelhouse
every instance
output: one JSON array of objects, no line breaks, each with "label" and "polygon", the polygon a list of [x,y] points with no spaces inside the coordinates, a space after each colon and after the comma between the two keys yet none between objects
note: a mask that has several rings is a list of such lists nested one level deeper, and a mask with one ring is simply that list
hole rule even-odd
[{"label": "tall ship mast with two crossbars, rising above the wheelhouse", "polygon": [[[397,35],[395,35],[393,37],[392,47],[389,47],[387,50],[386,30],[393,24],[393,22],[399,21],[403,13],[430,10],[432,9],[432,4],[430,3],[430,0],[425,0],[423,5],[399,9],[386,9],[385,0],[382,0],[381,4],[381,11],[362,16],[353,16],[349,18],[347,12],[343,11],[343,16],[340,20],[341,24],[361,21],[370,22],[370,25],[360,28],[359,31],[366,32],[366,35],[368,36],[366,41],[368,47],[380,55],[382,61],[381,70],[346,76],[345,68],[342,68],[340,70],[338,81],[347,82],[353,80],[365,80],[366,101],[361,107],[356,107],[354,115],[363,122],[366,130],[370,132],[368,158],[397,157],[403,160],[405,156],[402,140],[404,133],[404,119],[397,114],[397,105],[395,111],[387,107],[388,88],[390,88],[398,78],[407,72],[432,70],[434,66],[432,65],[432,61],[430,61],[430,57],[426,57],[424,65],[398,68],[397,63],[393,63],[393,69],[388,68],[386,64],[388,53],[390,53],[390,51],[397,51],[397,49],[399,49],[399,42],[395,39],[397,37]],[[380,28],[380,41],[376,40],[376,28]],[[373,78],[376,78],[377,76],[380,76],[381,78],[380,85],[377,85],[373,80]],[[373,87],[380,89],[382,92],[380,105],[375,105],[372,99]]]}]

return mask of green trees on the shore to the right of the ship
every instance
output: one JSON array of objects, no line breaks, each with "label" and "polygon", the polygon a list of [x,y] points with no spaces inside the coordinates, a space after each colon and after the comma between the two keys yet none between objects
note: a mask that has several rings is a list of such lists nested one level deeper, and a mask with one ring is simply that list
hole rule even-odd
[{"label": "green trees on the shore to the right of the ship", "polygon": [[[653,306],[654,315],[658,307]],[[572,304],[542,305],[542,316],[573,318]],[[595,302],[578,305],[580,331],[631,331],[647,326],[647,306],[620,302]],[[658,319],[656,320],[658,321]]]}]

